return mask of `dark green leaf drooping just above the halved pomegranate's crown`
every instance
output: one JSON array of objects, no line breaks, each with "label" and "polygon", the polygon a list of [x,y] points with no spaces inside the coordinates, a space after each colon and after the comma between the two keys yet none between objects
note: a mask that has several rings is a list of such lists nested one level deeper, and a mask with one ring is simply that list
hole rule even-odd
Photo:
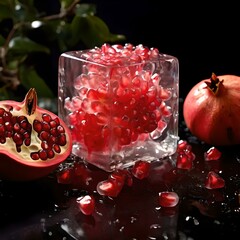
[{"label": "dark green leaf drooping just above the halved pomegranate's crown", "polygon": [[53,98],[54,94],[33,67],[20,67],[21,84],[26,88],[35,88],[39,97]]}]

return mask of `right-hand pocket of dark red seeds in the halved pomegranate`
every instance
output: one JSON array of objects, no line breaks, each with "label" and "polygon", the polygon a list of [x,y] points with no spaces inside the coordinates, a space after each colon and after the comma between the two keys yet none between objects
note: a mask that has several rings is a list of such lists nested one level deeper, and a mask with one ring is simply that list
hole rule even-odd
[{"label": "right-hand pocket of dark red seeds in the halved pomegranate", "polygon": [[31,153],[33,160],[46,160],[61,152],[61,146],[66,145],[65,129],[61,126],[58,118],[52,119],[48,114],[42,115],[42,121],[35,119],[33,129],[41,140],[41,147],[37,152]]}]

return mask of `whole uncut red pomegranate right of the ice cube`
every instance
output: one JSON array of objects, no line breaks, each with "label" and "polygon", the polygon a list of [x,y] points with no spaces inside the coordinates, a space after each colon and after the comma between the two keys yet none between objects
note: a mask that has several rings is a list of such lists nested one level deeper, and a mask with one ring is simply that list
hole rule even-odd
[{"label": "whole uncut red pomegranate right of the ice cube", "polygon": [[240,77],[216,76],[197,83],[183,104],[190,132],[216,146],[240,144]]}]

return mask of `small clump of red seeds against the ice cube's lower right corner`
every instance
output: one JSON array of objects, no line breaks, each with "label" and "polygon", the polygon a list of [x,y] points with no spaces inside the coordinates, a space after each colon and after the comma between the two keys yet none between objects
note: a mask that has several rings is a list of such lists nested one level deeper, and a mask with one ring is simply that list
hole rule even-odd
[{"label": "small clump of red seeds against the ice cube's lower right corner", "polygon": [[177,168],[192,169],[195,157],[195,154],[192,152],[192,146],[186,140],[179,140],[177,147]]}]

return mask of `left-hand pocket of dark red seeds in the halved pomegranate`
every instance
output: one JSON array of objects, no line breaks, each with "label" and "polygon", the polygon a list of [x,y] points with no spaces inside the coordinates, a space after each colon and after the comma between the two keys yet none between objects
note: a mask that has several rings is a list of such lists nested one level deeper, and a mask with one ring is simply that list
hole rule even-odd
[{"label": "left-hand pocket of dark red seeds in the halved pomegranate", "polygon": [[29,146],[31,143],[32,125],[25,116],[13,116],[10,111],[0,108],[0,143],[4,144],[7,138],[11,138],[17,152],[21,146]]}]

